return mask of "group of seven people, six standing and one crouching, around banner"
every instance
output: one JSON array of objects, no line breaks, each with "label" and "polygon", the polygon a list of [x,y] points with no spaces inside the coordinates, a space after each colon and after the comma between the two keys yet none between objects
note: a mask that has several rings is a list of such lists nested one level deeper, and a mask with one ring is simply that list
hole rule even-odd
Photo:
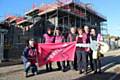
[{"label": "group of seven people, six standing and one crouching, around banner", "polygon": [[[47,32],[43,35],[43,43],[62,43],[62,42],[73,42],[76,41],[77,44],[90,44],[93,41],[99,42],[102,41],[101,34],[97,34],[94,28],[89,29],[88,26],[84,26],[84,28],[79,27],[71,27],[69,34],[64,36],[62,34],[62,27],[57,27],[55,30],[55,34],[53,35],[52,29],[48,28]],[[76,47],[74,61],[62,61],[57,62],[58,70],[62,70],[63,72],[66,69],[75,69],[78,70],[79,73],[88,73],[88,65],[90,63],[91,71],[94,73],[101,72],[101,61],[100,57],[97,55],[100,50],[100,45],[97,50],[93,50],[89,47]],[[96,57],[94,57],[96,55]],[[34,47],[34,41],[28,40],[27,47],[23,51],[23,62],[25,66],[26,76],[28,76],[28,71],[30,67],[32,68],[32,73],[37,74],[37,51]],[[53,66],[52,63],[46,64],[46,71],[52,71]]]}]

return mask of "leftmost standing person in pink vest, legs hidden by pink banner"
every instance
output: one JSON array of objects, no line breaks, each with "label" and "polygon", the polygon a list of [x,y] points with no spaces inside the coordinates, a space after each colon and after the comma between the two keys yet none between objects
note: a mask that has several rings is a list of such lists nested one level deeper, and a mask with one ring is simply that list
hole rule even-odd
[{"label": "leftmost standing person in pink vest, legs hidden by pink banner", "polygon": [[[47,33],[43,35],[43,42],[44,43],[53,43],[54,36],[52,34],[52,28],[47,28]],[[52,71],[52,63],[46,64],[46,71]]]}]

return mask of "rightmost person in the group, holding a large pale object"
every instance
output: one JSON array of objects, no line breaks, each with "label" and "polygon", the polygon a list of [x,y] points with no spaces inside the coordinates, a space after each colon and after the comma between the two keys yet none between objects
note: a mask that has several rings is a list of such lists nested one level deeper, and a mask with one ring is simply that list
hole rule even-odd
[{"label": "rightmost person in the group, holding a large pale object", "polygon": [[[101,61],[100,61],[100,56],[99,56],[99,51],[100,51],[100,44],[99,42],[101,42],[103,40],[101,34],[96,34],[95,29],[91,29],[91,43],[94,44],[92,48],[93,50],[93,60],[94,60],[94,73],[96,74],[97,72],[101,72]],[[97,47],[96,47],[97,45]],[[97,69],[99,71],[97,71]]]}]

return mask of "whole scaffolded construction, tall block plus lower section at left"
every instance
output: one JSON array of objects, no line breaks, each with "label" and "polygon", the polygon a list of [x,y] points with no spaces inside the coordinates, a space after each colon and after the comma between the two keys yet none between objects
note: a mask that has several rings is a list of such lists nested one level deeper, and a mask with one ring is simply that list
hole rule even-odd
[{"label": "whole scaffolded construction, tall block plus lower section at left", "polygon": [[[45,4],[39,8],[34,7],[25,12],[24,17],[9,16],[4,22],[9,24],[8,33],[5,35],[9,58],[20,58],[24,43],[29,38],[41,42],[42,35],[47,27],[63,27],[63,34],[69,31],[70,27],[82,27],[88,25],[101,32],[101,23],[106,18],[89,7],[89,4],[68,0]],[[16,57],[17,56],[17,57]]]}]

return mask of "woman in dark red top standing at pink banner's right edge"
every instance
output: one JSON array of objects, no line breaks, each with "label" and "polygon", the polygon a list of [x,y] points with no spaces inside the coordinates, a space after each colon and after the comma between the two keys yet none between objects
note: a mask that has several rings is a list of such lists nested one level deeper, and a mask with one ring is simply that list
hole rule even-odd
[{"label": "woman in dark red top standing at pink banner's right edge", "polygon": [[[78,28],[77,30],[78,30],[78,36],[76,37],[77,43],[78,44],[80,44],[80,43],[86,44],[86,35],[84,35],[83,29]],[[77,54],[77,66],[78,66],[79,73],[81,74],[83,72],[82,70],[84,69],[85,74],[87,74],[87,69],[86,69],[87,53],[85,52],[85,48],[77,47],[76,54]]]}]

